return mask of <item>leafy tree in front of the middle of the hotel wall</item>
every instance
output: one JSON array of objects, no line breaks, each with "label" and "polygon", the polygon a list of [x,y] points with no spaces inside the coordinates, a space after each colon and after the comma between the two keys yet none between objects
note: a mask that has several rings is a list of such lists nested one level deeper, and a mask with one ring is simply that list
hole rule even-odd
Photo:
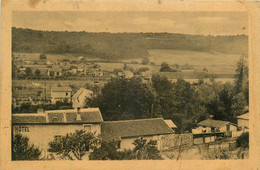
[{"label": "leafy tree in front of the middle of the hotel wall", "polygon": [[94,134],[76,130],[61,138],[55,138],[49,143],[48,151],[60,155],[63,159],[82,160],[89,149],[92,149],[98,142],[99,139]]}]

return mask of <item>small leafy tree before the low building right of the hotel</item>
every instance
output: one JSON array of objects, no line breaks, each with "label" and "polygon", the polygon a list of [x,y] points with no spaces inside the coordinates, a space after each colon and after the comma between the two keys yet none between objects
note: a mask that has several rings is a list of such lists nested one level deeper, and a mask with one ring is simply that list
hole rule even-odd
[{"label": "small leafy tree before the low building right of the hotel", "polygon": [[147,140],[144,138],[138,138],[133,143],[135,148],[133,152],[136,154],[136,158],[139,160],[156,160],[162,159],[161,155],[159,154],[160,151],[157,148],[157,141],[150,140],[147,143]]}]

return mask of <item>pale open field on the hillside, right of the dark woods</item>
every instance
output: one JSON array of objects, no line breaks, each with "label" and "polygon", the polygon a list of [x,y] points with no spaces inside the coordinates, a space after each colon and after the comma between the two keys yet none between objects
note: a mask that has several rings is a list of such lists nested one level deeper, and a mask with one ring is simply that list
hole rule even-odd
[{"label": "pale open field on the hillside, right of the dark woods", "polygon": [[162,62],[173,64],[189,64],[195,70],[201,71],[204,67],[210,73],[234,74],[239,55],[208,53],[181,50],[149,50],[150,62],[160,65]]}]

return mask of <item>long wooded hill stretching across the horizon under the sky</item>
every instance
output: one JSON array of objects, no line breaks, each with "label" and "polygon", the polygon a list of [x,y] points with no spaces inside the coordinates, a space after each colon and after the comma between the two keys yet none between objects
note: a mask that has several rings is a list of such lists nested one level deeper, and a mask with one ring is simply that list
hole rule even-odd
[{"label": "long wooded hill stretching across the horizon under the sky", "polygon": [[12,51],[79,54],[85,57],[131,59],[150,49],[248,53],[246,35],[203,36],[173,33],[55,32],[12,28]]}]

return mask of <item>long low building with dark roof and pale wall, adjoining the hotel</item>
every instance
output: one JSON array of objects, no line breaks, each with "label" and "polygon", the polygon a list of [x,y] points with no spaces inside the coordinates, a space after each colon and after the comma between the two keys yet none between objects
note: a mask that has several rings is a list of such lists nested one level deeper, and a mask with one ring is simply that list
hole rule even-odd
[{"label": "long low building with dark roof and pale wall, adjoining the hotel", "polygon": [[157,140],[158,149],[161,149],[161,138],[173,133],[162,118],[105,121],[101,125],[102,140],[118,141],[120,150],[133,149],[133,142],[139,137],[148,141]]}]

